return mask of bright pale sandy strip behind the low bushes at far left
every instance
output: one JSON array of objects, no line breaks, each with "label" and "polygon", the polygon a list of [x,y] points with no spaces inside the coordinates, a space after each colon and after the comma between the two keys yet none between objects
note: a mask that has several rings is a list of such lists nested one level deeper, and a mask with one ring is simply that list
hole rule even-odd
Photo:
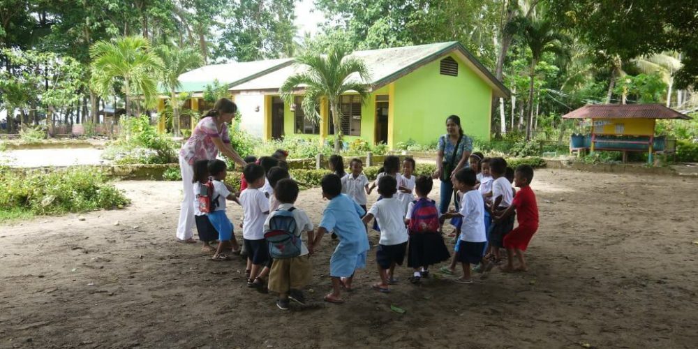
[{"label": "bright pale sandy strip behind the low bushes at far left", "polygon": [[0,152],[0,165],[22,168],[40,166],[101,165],[108,163],[102,156],[103,149],[20,149]]}]

